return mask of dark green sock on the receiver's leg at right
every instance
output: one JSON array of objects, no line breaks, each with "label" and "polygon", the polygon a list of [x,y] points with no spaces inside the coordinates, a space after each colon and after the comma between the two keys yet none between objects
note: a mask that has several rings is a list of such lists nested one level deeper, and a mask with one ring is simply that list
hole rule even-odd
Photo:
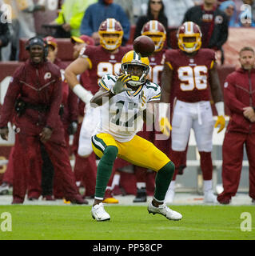
[{"label": "dark green sock on the receiver's leg at right", "polygon": [[173,178],[175,166],[173,162],[168,162],[161,170],[157,171],[155,178],[155,192],[154,198],[158,202],[163,202],[165,199],[165,194],[169,188],[169,184]]}]

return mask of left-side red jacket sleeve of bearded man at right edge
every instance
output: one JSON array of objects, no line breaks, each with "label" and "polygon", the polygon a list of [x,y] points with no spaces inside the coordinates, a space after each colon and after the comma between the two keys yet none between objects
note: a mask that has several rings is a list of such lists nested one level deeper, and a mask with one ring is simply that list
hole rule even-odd
[{"label": "left-side red jacket sleeve of bearded man at right edge", "polygon": [[225,105],[229,107],[230,111],[238,114],[243,113],[245,104],[237,100],[237,92],[234,86],[233,78],[227,77],[224,84],[224,98]]}]

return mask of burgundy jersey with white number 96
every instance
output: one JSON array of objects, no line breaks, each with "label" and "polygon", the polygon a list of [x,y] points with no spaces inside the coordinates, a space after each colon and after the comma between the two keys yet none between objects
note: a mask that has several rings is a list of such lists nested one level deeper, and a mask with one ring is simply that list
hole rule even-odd
[{"label": "burgundy jersey with white number 96", "polygon": [[175,97],[182,102],[209,101],[209,70],[214,62],[213,50],[200,49],[192,57],[181,50],[167,50],[165,64],[173,70]]}]

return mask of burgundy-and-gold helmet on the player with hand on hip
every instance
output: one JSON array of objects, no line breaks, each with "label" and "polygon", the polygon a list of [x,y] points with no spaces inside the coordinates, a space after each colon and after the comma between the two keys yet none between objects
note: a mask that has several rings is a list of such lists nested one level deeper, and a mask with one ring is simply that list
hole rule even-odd
[{"label": "burgundy-and-gold helmet on the player with hand on hip", "polygon": [[122,45],[123,29],[115,18],[106,18],[99,26],[100,44],[106,50],[115,50]]}]

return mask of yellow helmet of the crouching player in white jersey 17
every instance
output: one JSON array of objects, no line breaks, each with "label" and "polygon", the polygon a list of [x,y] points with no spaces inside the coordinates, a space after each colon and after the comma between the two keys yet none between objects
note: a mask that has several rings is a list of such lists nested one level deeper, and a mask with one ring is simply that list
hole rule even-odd
[{"label": "yellow helmet of the crouching player in white jersey 17", "polygon": [[143,58],[134,50],[130,50],[122,58],[122,72],[132,78],[128,82],[130,86],[140,86],[149,74],[149,58]]}]

